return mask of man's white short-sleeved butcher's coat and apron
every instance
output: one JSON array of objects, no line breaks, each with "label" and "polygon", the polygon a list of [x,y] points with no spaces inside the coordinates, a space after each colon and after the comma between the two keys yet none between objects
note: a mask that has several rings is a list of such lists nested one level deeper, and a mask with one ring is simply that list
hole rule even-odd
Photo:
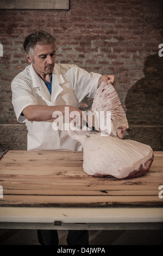
[{"label": "man's white short-sleeved butcher's coat and apron", "polygon": [[85,96],[94,97],[100,74],[88,73],[76,65],[55,64],[52,95],[46,84],[29,65],[11,83],[12,105],[20,123],[26,122],[28,150],[82,150],[65,130],[54,130],[53,121],[28,121],[21,115],[29,105],[70,105],[78,108]]}]

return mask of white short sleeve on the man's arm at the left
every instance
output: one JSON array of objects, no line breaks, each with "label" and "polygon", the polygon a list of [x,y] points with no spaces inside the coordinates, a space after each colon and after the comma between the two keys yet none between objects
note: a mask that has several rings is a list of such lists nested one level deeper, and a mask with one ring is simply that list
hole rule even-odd
[{"label": "white short sleeve on the man's arm at the left", "polygon": [[12,105],[16,114],[17,121],[24,123],[26,117],[22,115],[24,108],[30,105],[37,105],[37,101],[33,96],[30,82],[23,76],[16,76],[11,82]]}]

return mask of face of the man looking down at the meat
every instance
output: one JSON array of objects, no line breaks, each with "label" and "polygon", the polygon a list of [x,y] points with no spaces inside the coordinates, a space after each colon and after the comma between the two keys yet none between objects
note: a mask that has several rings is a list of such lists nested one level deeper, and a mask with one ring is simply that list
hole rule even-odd
[{"label": "face of the man looking down at the meat", "polygon": [[26,55],[29,63],[33,64],[36,72],[41,76],[45,77],[51,74],[55,65],[55,45],[39,45],[37,44],[34,48],[33,58]]}]

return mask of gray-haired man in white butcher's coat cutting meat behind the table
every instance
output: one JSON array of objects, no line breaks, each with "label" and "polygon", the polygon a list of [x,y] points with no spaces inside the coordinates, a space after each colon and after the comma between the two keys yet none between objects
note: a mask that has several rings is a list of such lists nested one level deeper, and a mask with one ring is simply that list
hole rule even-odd
[{"label": "gray-haired man in white butcher's coat cutting meat behind the table", "polygon": [[[95,96],[104,81],[115,77],[88,73],[76,65],[56,64],[56,42],[51,34],[39,31],[24,40],[24,51],[30,63],[11,83],[12,105],[20,123],[26,123],[28,150],[82,150],[66,130],[54,130],[54,113],[65,115],[78,111],[85,96]],[[57,245],[55,230],[38,230],[42,245]],[[68,231],[68,245],[88,245],[87,231]]]}]

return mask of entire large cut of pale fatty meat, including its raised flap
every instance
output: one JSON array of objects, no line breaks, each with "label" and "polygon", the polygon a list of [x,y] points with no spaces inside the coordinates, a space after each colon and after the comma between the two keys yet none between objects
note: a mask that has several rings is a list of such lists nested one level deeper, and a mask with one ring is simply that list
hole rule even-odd
[{"label": "entire large cut of pale fatty meat, including its raised flap", "polygon": [[135,178],[147,173],[153,162],[153,150],[146,144],[121,139],[128,122],[111,84],[102,84],[98,88],[91,108],[93,111],[105,111],[105,115],[109,112],[111,129],[106,126],[104,130],[99,129],[100,132],[78,129],[67,131],[72,139],[83,146],[84,171],[89,175],[111,175],[117,179]]}]

